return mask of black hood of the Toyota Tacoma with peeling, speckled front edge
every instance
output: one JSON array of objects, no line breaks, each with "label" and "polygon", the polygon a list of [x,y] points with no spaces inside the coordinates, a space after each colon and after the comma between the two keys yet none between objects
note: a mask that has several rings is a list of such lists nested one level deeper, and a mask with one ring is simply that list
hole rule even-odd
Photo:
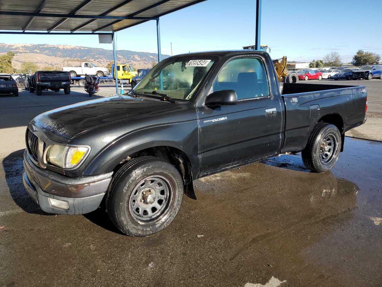
[{"label": "black hood of the Toyota Tacoma with peeling, speckled front edge", "polygon": [[31,123],[50,139],[68,142],[75,135],[95,127],[176,106],[178,104],[147,98],[112,96],[53,109],[38,115]]}]

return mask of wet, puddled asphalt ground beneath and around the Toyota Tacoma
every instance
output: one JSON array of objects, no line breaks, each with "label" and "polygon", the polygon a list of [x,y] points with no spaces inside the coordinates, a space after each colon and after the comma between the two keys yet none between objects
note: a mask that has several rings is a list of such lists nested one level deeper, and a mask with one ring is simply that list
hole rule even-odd
[{"label": "wet, puddled asphalt ground beneath and around the Toyota Tacoma", "polygon": [[286,155],[196,180],[147,238],[42,212],[22,155],[0,165],[0,286],[382,286],[381,142],[347,137],[323,174]]}]

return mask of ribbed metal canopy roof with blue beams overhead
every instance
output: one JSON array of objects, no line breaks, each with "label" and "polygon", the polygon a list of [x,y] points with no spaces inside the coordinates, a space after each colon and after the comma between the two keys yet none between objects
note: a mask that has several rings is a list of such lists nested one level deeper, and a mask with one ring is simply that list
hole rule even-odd
[{"label": "ribbed metal canopy roof with blue beams overhead", "polygon": [[[0,30],[115,32],[205,0],[12,0],[0,3]],[[74,34],[73,33],[73,34]]]}]

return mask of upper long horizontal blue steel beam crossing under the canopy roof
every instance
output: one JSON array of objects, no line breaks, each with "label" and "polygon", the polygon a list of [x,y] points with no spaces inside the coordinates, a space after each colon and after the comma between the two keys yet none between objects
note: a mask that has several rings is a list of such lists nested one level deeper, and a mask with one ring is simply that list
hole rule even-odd
[{"label": "upper long horizontal blue steel beam crossing under the canopy roof", "polygon": [[0,15],[8,16],[32,16],[32,17],[48,17],[48,18],[74,18],[74,19],[118,19],[122,20],[157,20],[157,17],[133,17],[133,16],[101,16],[101,15],[70,15],[55,13],[31,13],[31,12],[13,12],[0,11]]}]

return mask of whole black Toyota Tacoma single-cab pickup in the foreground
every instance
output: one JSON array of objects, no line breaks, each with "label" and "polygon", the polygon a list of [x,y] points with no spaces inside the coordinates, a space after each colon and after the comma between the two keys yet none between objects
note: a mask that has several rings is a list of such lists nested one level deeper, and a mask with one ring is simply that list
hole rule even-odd
[{"label": "whole black Toyota Tacoma single-cab pickup in the foreground", "polygon": [[366,120],[366,88],[276,79],[265,52],[167,58],[125,95],[35,117],[24,186],[50,213],[105,200],[123,233],[147,236],[173,220],[183,193],[196,199],[194,179],[297,152],[312,171],[330,170],[345,132]]}]

